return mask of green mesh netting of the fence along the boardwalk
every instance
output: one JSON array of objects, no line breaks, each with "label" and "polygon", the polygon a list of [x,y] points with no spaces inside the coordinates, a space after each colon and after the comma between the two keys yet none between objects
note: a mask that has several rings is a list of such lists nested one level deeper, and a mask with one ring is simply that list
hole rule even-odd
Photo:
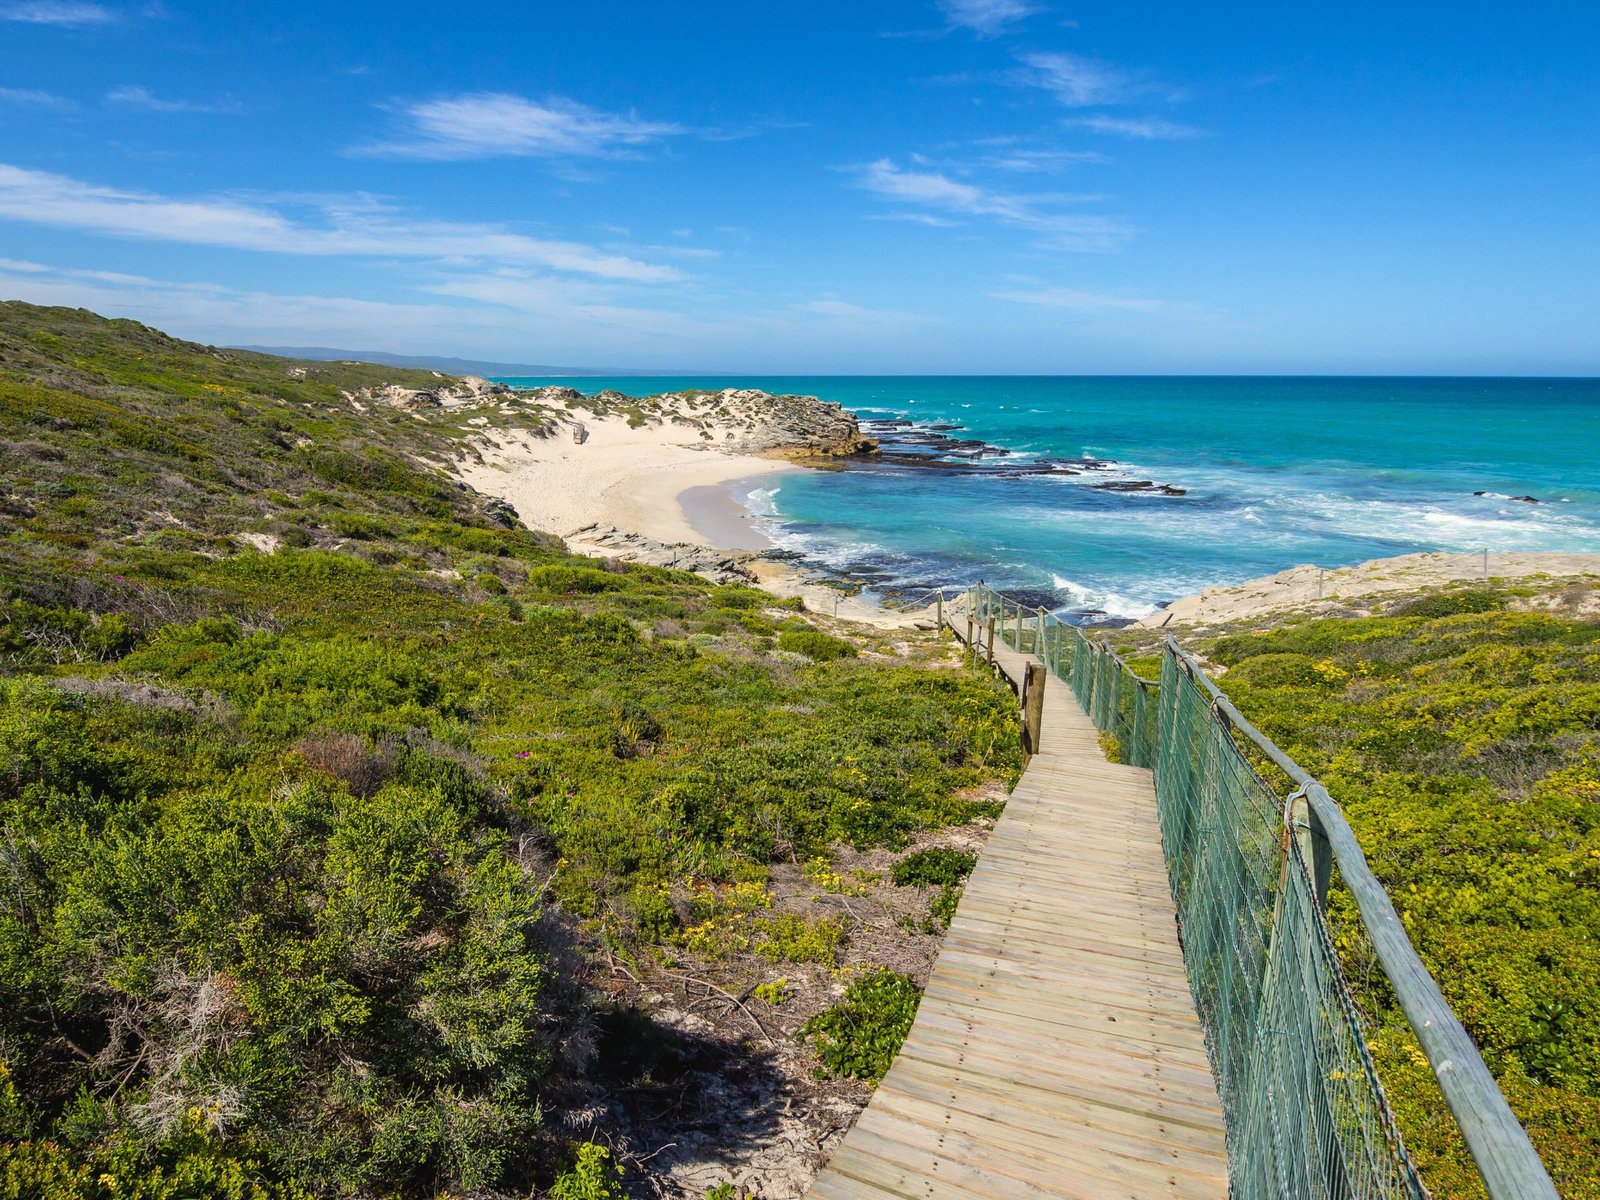
[{"label": "green mesh netting of the fence along the boardwalk", "polygon": [[1427,1195],[1366,1051],[1293,834],[1296,795],[1246,760],[1186,664],[1158,683],[1042,610],[978,589],[974,634],[1038,654],[1115,758],[1155,773],[1189,986],[1227,1125],[1232,1200]]}]

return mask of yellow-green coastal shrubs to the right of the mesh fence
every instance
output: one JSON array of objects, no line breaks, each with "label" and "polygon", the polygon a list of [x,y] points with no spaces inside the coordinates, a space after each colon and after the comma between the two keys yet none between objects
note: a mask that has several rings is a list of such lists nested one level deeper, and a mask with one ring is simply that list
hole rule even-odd
[{"label": "yellow-green coastal shrubs to the right of the mesh fence", "polygon": [[[1592,587],[1456,587],[1203,642],[1344,806],[1557,1189],[1600,1197],[1600,622]],[[1330,898],[1370,1050],[1435,1195],[1482,1197],[1416,1040]]]}]

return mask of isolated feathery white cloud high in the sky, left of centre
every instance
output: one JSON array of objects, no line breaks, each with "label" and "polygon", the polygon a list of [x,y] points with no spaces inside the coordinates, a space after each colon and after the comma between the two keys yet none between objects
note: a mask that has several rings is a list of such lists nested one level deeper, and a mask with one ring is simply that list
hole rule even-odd
[{"label": "isolated feathery white cloud high in the sky, left of centre", "polygon": [[683,133],[670,122],[600,112],[552,96],[533,101],[502,91],[440,96],[403,107],[410,128],[394,141],[357,147],[381,158],[619,158]]}]

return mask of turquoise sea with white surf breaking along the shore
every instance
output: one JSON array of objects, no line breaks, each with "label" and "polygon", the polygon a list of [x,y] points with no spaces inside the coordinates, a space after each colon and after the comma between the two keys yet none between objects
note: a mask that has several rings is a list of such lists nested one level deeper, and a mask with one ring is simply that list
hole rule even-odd
[{"label": "turquoise sea with white surf breaking along the shore", "polygon": [[[1600,550],[1600,379],[506,382],[634,395],[798,392],[837,400],[864,421],[914,422],[888,427],[894,435],[960,426],[944,435],[1010,451],[982,456],[973,470],[808,470],[746,490],[781,547],[896,590],[982,578],[1053,592],[1064,610],[1128,618],[1296,563],[1485,547]],[[1062,466],[1027,474],[1040,459]],[[1184,494],[1104,486],[1146,480]]]}]

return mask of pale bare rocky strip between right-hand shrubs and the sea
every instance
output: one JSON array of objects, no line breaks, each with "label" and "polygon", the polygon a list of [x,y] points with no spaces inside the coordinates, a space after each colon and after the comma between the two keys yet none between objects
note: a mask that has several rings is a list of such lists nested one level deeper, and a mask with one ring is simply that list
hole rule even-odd
[{"label": "pale bare rocky strip between right-hand shrubs and the sea", "polygon": [[[1136,622],[1139,629],[1168,626],[1221,626],[1262,613],[1306,610],[1336,616],[1384,592],[1421,592],[1445,584],[1483,579],[1600,579],[1600,554],[1403,554],[1373,558],[1357,566],[1291,566],[1234,587],[1206,587],[1200,595],[1174,600],[1160,613]],[[1352,603],[1354,602],[1354,603]]]}]

